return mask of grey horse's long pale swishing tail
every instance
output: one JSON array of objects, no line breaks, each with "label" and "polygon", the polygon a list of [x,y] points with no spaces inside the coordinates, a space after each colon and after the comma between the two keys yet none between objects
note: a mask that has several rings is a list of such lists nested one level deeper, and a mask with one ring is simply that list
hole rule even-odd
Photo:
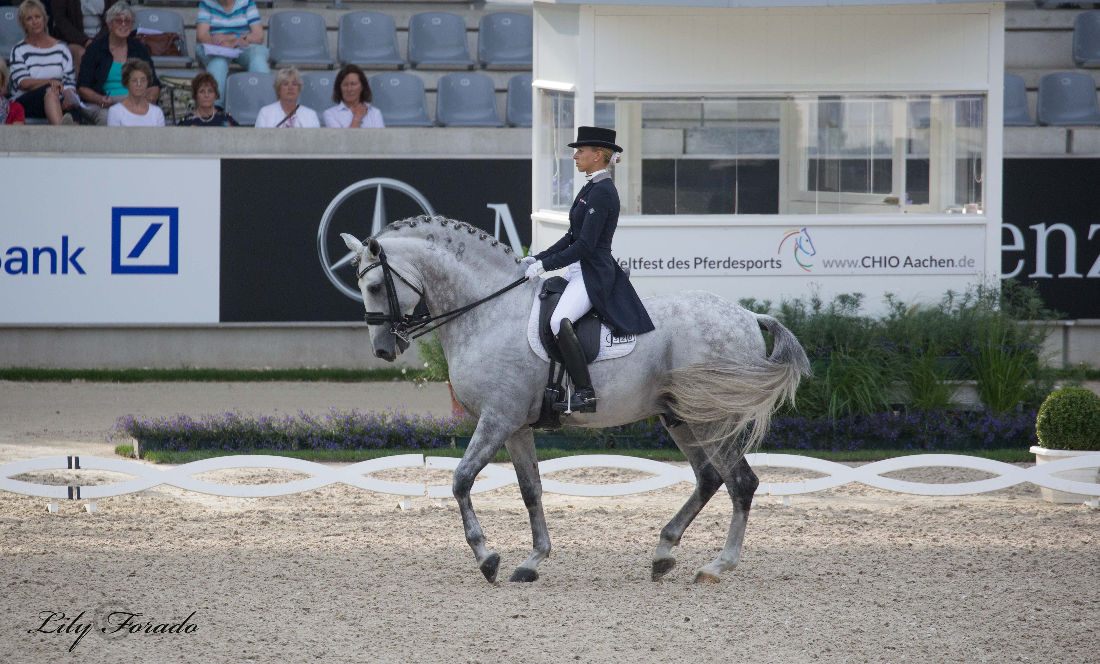
[{"label": "grey horse's long pale swishing tail", "polygon": [[776,337],[771,357],[700,362],[666,374],[661,396],[675,417],[694,425],[698,444],[741,441],[741,452],[752,452],[768,433],[772,412],[794,402],[799,381],[810,374],[794,334],[770,316],[756,318]]}]

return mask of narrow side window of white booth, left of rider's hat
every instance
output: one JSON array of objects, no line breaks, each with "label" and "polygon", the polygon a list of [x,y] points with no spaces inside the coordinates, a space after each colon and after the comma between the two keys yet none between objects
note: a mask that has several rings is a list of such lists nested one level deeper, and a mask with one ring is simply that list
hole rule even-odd
[{"label": "narrow side window of white booth, left of rider's hat", "polygon": [[573,202],[573,93],[538,90],[542,122],[539,126],[540,178],[544,207],[569,210]]}]

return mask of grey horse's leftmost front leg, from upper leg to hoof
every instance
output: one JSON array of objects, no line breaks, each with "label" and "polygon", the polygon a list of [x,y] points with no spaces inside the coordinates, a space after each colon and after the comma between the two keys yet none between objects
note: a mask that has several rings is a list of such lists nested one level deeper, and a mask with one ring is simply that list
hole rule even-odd
[{"label": "grey horse's leftmost front leg, from upper leg to hoof", "polygon": [[470,446],[466,447],[462,461],[459,462],[459,467],[454,471],[454,479],[451,484],[454,501],[459,503],[459,510],[462,512],[462,525],[466,531],[466,542],[474,552],[477,568],[485,575],[488,583],[496,580],[501,556],[495,551],[485,547],[485,533],[482,532],[477,517],[474,514],[474,506],[470,500],[470,488],[474,485],[477,474],[493,460],[493,456],[515,430],[515,425],[509,427],[492,414],[482,413],[482,418],[477,421],[477,429],[474,430],[474,434],[470,439]]}]

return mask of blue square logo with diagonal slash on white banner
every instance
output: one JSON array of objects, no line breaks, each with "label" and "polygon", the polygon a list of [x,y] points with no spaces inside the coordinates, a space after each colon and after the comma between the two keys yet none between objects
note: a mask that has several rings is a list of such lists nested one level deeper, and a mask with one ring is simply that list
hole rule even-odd
[{"label": "blue square logo with diagonal slash on white banner", "polygon": [[179,208],[111,208],[112,275],[179,274]]}]

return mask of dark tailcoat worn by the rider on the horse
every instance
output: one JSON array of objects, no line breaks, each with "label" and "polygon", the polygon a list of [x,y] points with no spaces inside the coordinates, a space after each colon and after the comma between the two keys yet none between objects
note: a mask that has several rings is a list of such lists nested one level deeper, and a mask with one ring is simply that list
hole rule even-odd
[{"label": "dark tailcoat worn by the rider on the horse", "polygon": [[612,257],[618,211],[618,191],[610,175],[596,175],[573,200],[565,236],[535,257],[547,270],[580,261],[584,289],[604,322],[619,335],[641,334],[652,331],[653,323],[630,280]]}]

